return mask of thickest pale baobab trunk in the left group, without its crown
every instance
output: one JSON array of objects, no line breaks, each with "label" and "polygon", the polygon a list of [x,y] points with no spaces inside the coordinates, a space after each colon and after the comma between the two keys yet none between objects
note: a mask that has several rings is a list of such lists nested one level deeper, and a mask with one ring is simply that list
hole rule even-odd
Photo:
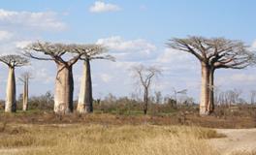
[{"label": "thickest pale baobab trunk in the left group, without its crown", "polygon": [[73,111],[74,79],[72,66],[57,65],[55,79],[54,112],[69,113]]}]

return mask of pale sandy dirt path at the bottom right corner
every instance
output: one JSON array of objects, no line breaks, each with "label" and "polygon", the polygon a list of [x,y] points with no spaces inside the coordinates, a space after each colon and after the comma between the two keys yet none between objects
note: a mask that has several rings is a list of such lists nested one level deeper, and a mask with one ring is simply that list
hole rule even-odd
[{"label": "pale sandy dirt path at the bottom right corner", "polygon": [[223,155],[256,150],[256,129],[216,129],[227,138],[212,139],[210,143]]}]

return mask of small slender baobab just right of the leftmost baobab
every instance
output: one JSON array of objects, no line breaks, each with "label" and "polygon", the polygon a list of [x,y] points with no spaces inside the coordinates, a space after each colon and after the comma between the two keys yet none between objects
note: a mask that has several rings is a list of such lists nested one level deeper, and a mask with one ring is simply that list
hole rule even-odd
[{"label": "small slender baobab just right of the leftmost baobab", "polygon": [[26,111],[28,109],[28,83],[29,79],[32,78],[32,74],[30,72],[24,72],[20,78],[18,78],[23,83],[23,103],[22,110]]}]

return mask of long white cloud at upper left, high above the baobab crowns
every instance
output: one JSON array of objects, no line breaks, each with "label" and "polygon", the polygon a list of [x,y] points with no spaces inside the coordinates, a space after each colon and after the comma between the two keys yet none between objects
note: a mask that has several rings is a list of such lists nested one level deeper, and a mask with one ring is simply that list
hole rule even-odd
[{"label": "long white cloud at upper left, high above the baobab crowns", "polygon": [[1,27],[34,28],[40,30],[63,30],[66,25],[54,12],[14,12],[0,9]]}]

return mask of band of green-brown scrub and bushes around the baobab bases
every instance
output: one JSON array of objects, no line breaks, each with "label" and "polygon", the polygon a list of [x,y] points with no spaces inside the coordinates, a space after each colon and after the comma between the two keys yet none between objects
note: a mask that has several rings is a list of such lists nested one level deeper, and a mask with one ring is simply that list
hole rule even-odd
[{"label": "band of green-brown scrub and bushes around the baobab bases", "polygon": [[[217,100],[216,100],[217,101]],[[144,115],[144,103],[128,97],[117,98],[112,95],[93,103],[91,114],[55,114],[51,93],[39,97],[30,97],[28,110],[21,111],[22,98],[17,100],[16,113],[5,113],[0,108],[0,121],[25,124],[61,124],[91,122],[109,125],[140,125],[145,122],[152,125],[196,125],[209,128],[254,128],[256,127],[256,108],[254,104],[236,105],[218,104],[209,116],[200,116],[198,105],[191,99],[176,102],[172,98],[150,99],[147,115]],[[75,106],[76,108],[76,102]]]}]

